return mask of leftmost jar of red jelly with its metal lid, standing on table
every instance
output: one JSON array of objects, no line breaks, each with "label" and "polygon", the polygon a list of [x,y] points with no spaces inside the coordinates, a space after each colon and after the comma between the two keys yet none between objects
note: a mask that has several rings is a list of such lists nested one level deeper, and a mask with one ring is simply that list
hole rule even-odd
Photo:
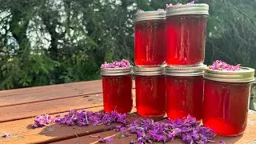
[{"label": "leftmost jar of red jelly with its metal lid, standing on table", "polygon": [[103,106],[106,113],[130,113],[133,107],[132,67],[102,68]]}]

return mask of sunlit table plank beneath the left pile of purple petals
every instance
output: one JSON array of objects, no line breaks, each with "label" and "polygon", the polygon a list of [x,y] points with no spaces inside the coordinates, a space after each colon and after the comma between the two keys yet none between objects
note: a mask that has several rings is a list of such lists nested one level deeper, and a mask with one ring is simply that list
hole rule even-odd
[{"label": "sunlit table plank beneath the left pile of purple petals", "polygon": [[[102,106],[86,109],[91,111],[102,110]],[[136,111],[135,108],[132,112]],[[54,114],[53,116],[55,116]],[[130,114],[128,121],[140,118],[137,114]],[[11,134],[11,138],[0,138],[0,143],[48,143],[58,142],[70,138],[82,137],[88,134],[97,134],[106,130],[112,130],[115,124],[111,126],[63,126],[50,125],[38,129],[32,129],[34,118],[26,118],[11,122],[0,123],[0,135],[4,133]]]}]

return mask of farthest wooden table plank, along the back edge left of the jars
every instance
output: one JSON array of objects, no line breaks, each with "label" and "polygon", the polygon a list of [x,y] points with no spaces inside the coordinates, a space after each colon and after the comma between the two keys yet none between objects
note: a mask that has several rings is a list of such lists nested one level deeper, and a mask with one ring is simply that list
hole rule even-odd
[{"label": "farthest wooden table plank, along the back edge left of the jars", "polygon": [[[133,85],[134,86],[134,85]],[[102,80],[0,91],[0,107],[102,93]]]}]

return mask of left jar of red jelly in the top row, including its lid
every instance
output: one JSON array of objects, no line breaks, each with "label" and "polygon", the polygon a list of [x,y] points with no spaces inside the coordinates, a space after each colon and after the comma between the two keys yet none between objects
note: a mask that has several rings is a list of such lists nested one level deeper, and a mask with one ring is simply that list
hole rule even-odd
[{"label": "left jar of red jelly in the top row, including its lid", "polygon": [[134,18],[136,66],[161,66],[166,61],[166,12],[145,11]]}]

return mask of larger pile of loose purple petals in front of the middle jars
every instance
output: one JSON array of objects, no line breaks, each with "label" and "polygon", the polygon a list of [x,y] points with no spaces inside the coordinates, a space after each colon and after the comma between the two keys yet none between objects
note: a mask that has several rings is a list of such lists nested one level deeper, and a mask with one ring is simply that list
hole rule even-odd
[{"label": "larger pile of loose purple petals in front of the middle jars", "polygon": [[116,131],[122,135],[136,134],[137,138],[130,143],[170,142],[174,138],[181,138],[186,143],[203,144],[211,142],[215,134],[210,128],[201,126],[190,115],[186,118],[154,122],[152,119],[134,121],[126,127],[116,126]]}]

